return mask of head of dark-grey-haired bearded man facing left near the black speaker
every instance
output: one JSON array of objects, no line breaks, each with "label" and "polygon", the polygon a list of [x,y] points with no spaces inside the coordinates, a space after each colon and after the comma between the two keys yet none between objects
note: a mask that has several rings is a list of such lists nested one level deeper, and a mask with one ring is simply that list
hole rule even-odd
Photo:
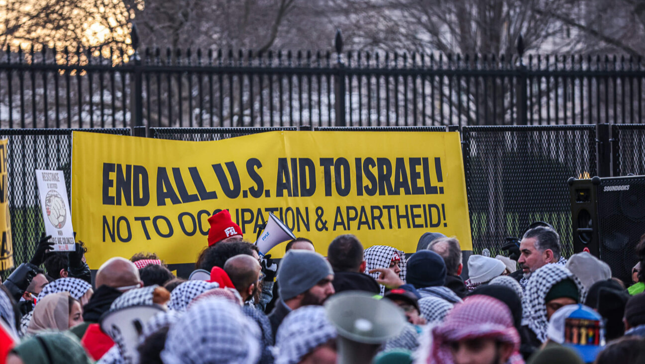
[{"label": "head of dark-grey-haired bearded man facing left near the black speaker", "polygon": [[520,258],[517,260],[522,271],[522,278],[519,280],[522,291],[526,289],[526,283],[537,269],[550,263],[566,264],[561,251],[560,235],[550,227],[533,227],[524,233],[520,242]]}]

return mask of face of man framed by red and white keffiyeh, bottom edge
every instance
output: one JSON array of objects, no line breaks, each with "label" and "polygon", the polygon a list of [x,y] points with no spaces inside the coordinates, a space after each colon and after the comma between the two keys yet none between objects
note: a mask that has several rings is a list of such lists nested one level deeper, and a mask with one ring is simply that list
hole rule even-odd
[{"label": "face of man framed by red and white keffiyeh, bottom edge", "polygon": [[455,364],[502,364],[512,354],[510,344],[498,345],[486,338],[453,341],[448,345]]}]

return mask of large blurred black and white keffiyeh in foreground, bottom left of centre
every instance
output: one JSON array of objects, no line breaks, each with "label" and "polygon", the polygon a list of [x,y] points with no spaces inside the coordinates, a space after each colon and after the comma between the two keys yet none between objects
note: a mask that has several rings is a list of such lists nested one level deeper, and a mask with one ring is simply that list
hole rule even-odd
[{"label": "large blurred black and white keffiyeh in foreground, bottom left of centre", "polygon": [[260,358],[260,329],[239,306],[221,298],[192,305],[168,330],[164,364],[244,363]]}]

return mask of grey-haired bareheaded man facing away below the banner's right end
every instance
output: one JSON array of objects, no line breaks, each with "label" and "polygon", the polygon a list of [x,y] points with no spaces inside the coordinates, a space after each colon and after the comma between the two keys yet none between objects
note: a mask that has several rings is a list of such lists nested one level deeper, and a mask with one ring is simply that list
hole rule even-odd
[{"label": "grey-haired bareheaded man facing away below the banner's right end", "polygon": [[459,240],[454,236],[448,238],[437,238],[428,244],[428,250],[433,251],[443,258],[446,263],[446,283],[444,287],[448,287],[451,291],[455,292],[459,298],[464,298],[468,294],[468,289],[461,279],[461,270],[464,265],[461,262],[461,245]]}]

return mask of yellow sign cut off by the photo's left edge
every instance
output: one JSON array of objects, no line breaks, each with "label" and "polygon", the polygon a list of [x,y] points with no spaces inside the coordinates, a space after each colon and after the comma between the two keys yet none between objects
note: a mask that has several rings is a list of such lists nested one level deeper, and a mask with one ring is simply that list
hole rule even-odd
[{"label": "yellow sign cut off by the photo's left edge", "polygon": [[0,271],[14,267],[14,247],[11,239],[11,218],[9,215],[8,178],[6,173],[6,148],[8,139],[0,140]]}]

